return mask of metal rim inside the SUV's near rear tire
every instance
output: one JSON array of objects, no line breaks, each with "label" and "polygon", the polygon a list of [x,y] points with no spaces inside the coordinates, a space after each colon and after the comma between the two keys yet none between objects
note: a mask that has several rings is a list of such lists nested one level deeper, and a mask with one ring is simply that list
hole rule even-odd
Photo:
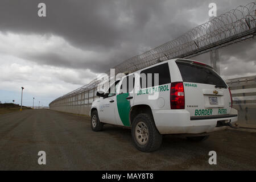
[{"label": "metal rim inside the SUV's near rear tire", "polygon": [[138,122],[135,127],[135,136],[139,144],[146,144],[148,141],[148,129],[144,122]]}]

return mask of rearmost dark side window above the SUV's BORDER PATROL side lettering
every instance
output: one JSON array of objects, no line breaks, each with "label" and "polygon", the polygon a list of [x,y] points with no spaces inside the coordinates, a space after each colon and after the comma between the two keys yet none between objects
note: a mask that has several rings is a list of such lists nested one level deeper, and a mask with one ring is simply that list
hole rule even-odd
[{"label": "rearmost dark side window above the SUV's BORDER PATROL side lettering", "polygon": [[[156,74],[158,73],[159,80],[157,84]],[[152,68],[141,71],[140,84],[141,88],[169,84],[171,82],[170,70],[168,63],[160,64]]]}]

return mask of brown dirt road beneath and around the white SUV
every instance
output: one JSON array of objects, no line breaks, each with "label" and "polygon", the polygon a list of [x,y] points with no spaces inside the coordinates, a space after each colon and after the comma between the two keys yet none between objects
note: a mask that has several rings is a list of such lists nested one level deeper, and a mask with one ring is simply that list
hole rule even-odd
[{"label": "brown dirt road beneath and around the white SUV", "polygon": [[[0,115],[1,170],[256,170],[256,133],[227,130],[201,143],[164,136],[153,153],[138,151],[129,129],[93,132],[89,117],[38,109]],[[217,165],[209,165],[209,151]],[[38,152],[46,152],[46,165]]]}]

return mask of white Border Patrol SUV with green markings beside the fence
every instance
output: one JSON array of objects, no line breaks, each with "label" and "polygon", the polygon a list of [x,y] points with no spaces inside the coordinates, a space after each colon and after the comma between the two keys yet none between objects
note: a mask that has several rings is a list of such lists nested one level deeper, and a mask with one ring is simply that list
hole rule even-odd
[{"label": "white Border Patrol SUV with green markings beside the fence", "polygon": [[[158,79],[157,79],[158,78]],[[237,110],[225,81],[207,64],[172,59],[115,81],[90,109],[93,131],[104,123],[131,128],[135,147],[157,150],[163,134],[184,134],[189,140],[233,127]]]}]

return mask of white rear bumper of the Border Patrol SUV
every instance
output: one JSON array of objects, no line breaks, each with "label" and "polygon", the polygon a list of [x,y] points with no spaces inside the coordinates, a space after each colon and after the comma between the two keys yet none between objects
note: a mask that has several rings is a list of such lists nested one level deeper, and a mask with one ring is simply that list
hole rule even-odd
[{"label": "white rear bumper of the Border Patrol SUV", "polygon": [[225,130],[228,126],[216,127],[218,121],[237,121],[237,110],[232,108],[228,115],[212,118],[190,117],[187,110],[152,110],[156,128],[160,134],[200,134]]}]

